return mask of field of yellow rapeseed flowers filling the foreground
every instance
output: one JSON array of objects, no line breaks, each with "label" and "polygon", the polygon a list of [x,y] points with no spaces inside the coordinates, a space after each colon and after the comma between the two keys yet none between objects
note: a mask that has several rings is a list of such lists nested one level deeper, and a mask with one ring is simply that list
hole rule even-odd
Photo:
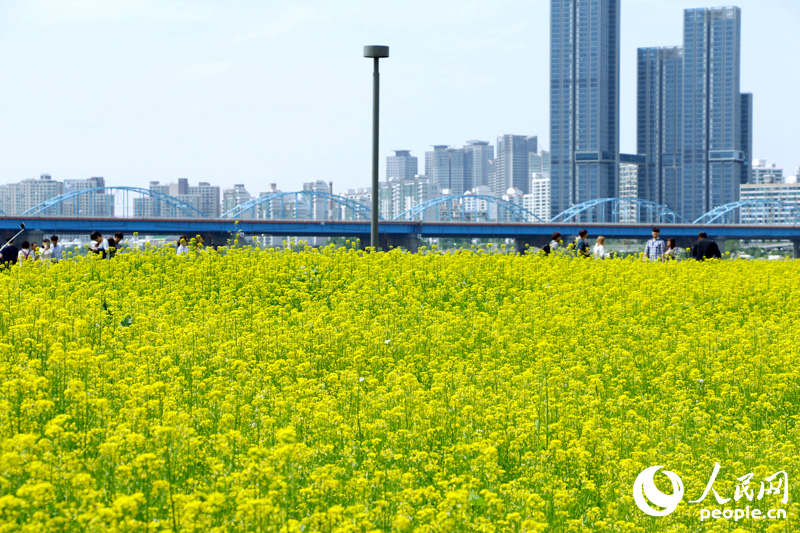
[{"label": "field of yellow rapeseed flowers filling the foreground", "polygon": [[[797,261],[150,249],[0,281],[0,531],[800,529]],[[727,506],[788,517],[700,522],[715,463],[724,498],[785,471],[788,504]]]}]

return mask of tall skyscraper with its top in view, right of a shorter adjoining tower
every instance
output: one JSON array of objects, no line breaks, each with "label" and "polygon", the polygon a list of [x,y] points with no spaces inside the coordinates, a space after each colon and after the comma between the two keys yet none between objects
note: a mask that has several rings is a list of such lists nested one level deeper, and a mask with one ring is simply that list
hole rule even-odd
[{"label": "tall skyscraper with its top in view, right of a shorter adjoining tower", "polygon": [[694,220],[736,201],[748,174],[739,92],[741,10],[687,9],[683,39],[683,176],[677,211]]}]

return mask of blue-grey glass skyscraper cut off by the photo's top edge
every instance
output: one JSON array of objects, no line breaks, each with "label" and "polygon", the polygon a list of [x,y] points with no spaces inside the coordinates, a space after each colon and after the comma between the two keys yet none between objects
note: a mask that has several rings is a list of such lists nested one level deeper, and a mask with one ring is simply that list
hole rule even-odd
[{"label": "blue-grey glass skyscraper cut off by the photo's top edge", "polygon": [[[552,215],[616,196],[619,42],[619,0],[551,0]],[[607,215],[589,213],[586,220]]]}]

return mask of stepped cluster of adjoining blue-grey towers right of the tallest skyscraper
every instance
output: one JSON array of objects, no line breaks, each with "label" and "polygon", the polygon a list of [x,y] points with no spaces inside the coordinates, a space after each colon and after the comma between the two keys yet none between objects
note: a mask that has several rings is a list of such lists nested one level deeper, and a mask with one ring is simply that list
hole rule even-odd
[{"label": "stepped cluster of adjoining blue-grey towers right of the tallest skyscraper", "polygon": [[753,95],[740,93],[741,11],[684,11],[683,47],[638,51],[639,197],[687,220],[750,181]]}]

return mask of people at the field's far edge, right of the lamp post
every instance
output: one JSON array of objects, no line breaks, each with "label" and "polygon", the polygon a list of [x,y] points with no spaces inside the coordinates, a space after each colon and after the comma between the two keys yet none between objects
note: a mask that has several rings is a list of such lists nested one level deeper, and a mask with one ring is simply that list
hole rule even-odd
[{"label": "people at the field's far edge, right of the lamp post", "polygon": [[[575,238],[575,243],[572,247],[564,245],[564,240],[561,233],[553,233],[550,242],[546,244],[542,250],[545,254],[550,254],[556,251],[559,252],[572,252],[581,257],[594,257],[595,259],[606,259],[611,257],[611,253],[606,251],[606,238],[604,236],[597,237],[594,247],[589,245],[589,232],[582,229],[578,232]],[[644,246],[644,253],[642,254],[643,261],[676,261],[682,258],[682,250],[678,247],[678,241],[674,238],[667,239],[666,241],[661,238],[661,230],[653,228],[651,231],[651,238]],[[701,231],[697,236],[697,242],[691,248],[691,257],[698,261],[705,261],[706,259],[721,258],[719,246],[713,239],[708,238],[705,231]]]}]

